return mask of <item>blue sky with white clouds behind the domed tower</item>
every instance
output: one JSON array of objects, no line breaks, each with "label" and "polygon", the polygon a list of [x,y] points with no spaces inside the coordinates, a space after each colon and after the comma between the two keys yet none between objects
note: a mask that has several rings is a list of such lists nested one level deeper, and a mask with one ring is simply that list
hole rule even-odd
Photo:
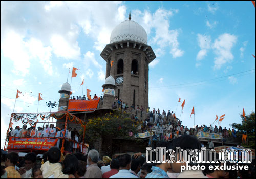
[{"label": "blue sky with white clouds behind the domed tower", "polygon": [[152,109],[175,111],[185,99],[181,120],[188,127],[193,106],[199,125],[226,114],[221,125],[229,127],[240,122],[243,108],[255,111],[251,1],[1,1],[1,148],[16,89],[22,94],[15,112],[36,112],[38,93],[44,99],[39,111],[50,111],[45,103],[58,101],[74,66],[80,69],[72,79],[74,95],[81,95],[84,78],[84,92],[87,87],[100,96],[106,62],[99,54],[130,10],[157,56],[149,72]]}]

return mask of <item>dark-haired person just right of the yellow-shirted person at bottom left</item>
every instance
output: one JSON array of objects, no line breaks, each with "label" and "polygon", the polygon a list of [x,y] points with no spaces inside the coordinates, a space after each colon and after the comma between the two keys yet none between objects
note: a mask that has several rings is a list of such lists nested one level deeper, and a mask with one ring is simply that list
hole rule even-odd
[{"label": "dark-haired person just right of the yellow-shirted person at bottom left", "polygon": [[31,178],[32,168],[36,164],[36,154],[28,153],[24,156],[24,167],[20,168],[20,174],[22,178]]}]

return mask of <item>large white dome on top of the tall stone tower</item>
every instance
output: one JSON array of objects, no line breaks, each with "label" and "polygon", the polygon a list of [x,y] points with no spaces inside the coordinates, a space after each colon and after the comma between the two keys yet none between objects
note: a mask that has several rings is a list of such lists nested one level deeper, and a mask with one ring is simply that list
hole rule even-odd
[{"label": "large white dome on top of the tall stone tower", "polygon": [[147,34],[145,29],[132,20],[125,20],[117,25],[110,35],[110,43],[132,40],[147,44]]}]

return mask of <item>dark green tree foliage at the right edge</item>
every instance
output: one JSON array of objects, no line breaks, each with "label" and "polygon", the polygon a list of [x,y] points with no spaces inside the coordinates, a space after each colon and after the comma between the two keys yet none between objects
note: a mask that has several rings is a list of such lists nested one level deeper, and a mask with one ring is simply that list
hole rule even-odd
[{"label": "dark green tree foliage at the right edge", "polygon": [[[255,112],[245,116],[245,118],[240,115],[242,118],[242,123],[232,123],[230,126],[238,130],[238,135],[242,136],[246,134],[247,129],[247,138],[248,138],[248,147],[255,148]],[[242,143],[242,146],[247,147],[247,141]]]}]

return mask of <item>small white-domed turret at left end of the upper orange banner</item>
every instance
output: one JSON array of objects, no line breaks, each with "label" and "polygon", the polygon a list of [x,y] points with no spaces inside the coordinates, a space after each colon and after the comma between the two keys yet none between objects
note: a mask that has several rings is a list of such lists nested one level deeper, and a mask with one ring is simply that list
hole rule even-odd
[{"label": "small white-domed turret at left end of the upper orange banner", "polygon": [[59,97],[59,111],[67,111],[68,104],[69,104],[69,96],[70,96],[70,84],[68,82],[64,83],[61,86],[61,90],[59,90],[60,97]]}]

